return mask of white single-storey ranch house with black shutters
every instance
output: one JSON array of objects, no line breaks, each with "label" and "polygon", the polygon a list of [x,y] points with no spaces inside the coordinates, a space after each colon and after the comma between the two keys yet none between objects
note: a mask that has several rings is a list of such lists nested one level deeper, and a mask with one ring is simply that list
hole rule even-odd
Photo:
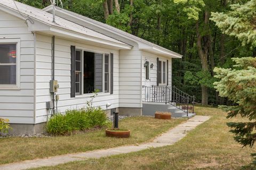
[{"label": "white single-storey ranch house with black shutters", "polygon": [[[167,94],[180,54],[64,9],[53,22],[52,10],[0,2],[0,117],[12,133],[42,132],[56,109],[84,107],[94,89],[93,106],[121,115],[142,115],[142,101]],[[163,99],[172,94],[159,97],[175,106]]]}]

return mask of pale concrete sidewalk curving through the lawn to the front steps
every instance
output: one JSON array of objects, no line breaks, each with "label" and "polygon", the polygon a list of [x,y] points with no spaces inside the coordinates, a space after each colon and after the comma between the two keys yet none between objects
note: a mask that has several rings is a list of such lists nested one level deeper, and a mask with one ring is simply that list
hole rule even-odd
[{"label": "pale concrete sidewalk curving through the lawn to the front steps", "polygon": [[182,123],[175,128],[163,133],[161,136],[157,137],[153,142],[142,143],[138,146],[122,146],[110,149],[102,149],[102,150],[93,150],[89,152],[82,152],[77,154],[67,154],[54,156],[43,159],[34,159],[34,160],[26,160],[19,163],[5,164],[0,165],[1,170],[7,169],[28,169],[28,168],[36,168],[42,166],[54,166],[59,164],[64,164],[68,162],[73,162],[76,160],[84,160],[87,158],[100,158],[106,157],[110,155],[118,155],[125,154],[129,152],[140,151],[148,148],[156,148],[163,147],[167,145],[173,145],[175,142],[179,141],[183,137],[186,136],[187,132],[193,130],[199,124],[204,123],[209,120],[210,116],[195,116],[190,118],[187,122]]}]

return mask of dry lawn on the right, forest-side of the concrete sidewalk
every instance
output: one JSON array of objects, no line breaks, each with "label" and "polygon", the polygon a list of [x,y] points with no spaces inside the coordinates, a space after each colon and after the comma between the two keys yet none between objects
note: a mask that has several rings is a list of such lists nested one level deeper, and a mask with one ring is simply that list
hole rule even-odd
[{"label": "dry lawn on the right, forest-side of the concrete sidewalk", "polygon": [[250,153],[256,148],[242,148],[226,125],[243,118],[227,120],[217,108],[196,107],[195,111],[212,117],[172,146],[38,169],[241,169],[251,163]]}]

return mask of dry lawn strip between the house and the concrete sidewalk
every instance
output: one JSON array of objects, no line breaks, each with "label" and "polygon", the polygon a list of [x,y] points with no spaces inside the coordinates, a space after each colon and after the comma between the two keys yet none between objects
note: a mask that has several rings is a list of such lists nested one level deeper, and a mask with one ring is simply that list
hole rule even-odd
[{"label": "dry lawn strip between the house and the concrete sidewalk", "polygon": [[50,138],[0,138],[0,164],[145,142],[183,121],[128,117],[119,122],[119,128],[131,130],[128,139],[105,137],[104,129]]}]

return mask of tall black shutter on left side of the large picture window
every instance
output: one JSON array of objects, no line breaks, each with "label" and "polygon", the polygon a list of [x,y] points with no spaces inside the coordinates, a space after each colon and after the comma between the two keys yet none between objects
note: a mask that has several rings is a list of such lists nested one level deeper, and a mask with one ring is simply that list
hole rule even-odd
[{"label": "tall black shutter on left side of the large picture window", "polygon": [[71,88],[70,97],[76,96],[76,47],[71,46]]}]

